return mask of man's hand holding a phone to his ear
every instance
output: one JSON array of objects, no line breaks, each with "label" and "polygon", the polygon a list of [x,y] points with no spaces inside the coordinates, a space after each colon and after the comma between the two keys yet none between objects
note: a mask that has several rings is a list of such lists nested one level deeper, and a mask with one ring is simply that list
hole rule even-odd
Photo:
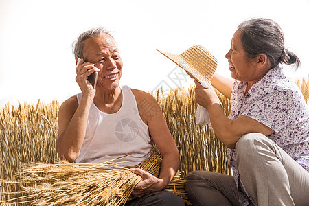
[{"label": "man's hand holding a phone to his ear", "polygon": [[[98,81],[98,68],[92,63],[84,62],[83,59],[78,58],[76,66],[76,82],[80,86],[82,93],[93,93]],[[94,93],[93,93],[94,94]]]}]

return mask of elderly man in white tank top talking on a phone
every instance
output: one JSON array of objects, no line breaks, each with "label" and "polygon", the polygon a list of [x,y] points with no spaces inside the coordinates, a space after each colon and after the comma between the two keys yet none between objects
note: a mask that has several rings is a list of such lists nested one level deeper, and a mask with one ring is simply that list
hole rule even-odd
[{"label": "elderly man in white tank top talking on a phone", "polygon": [[[117,159],[134,166],[146,158],[153,143],[161,153],[159,178],[134,169],[142,180],[133,194],[139,198],[126,205],[184,205],[179,196],[163,191],[179,167],[179,152],[159,104],[152,95],[119,87],[122,58],[111,34],[99,27],[82,33],[73,43],[76,82],[81,93],[60,107],[56,150],[61,159],[76,163],[102,163]],[[94,89],[88,81],[98,72]],[[127,155],[123,157],[124,155]]]}]

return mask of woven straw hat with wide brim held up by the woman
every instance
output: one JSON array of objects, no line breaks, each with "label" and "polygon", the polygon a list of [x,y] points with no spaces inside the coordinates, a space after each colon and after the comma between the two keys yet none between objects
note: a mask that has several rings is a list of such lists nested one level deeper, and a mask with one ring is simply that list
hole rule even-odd
[{"label": "woven straw hat with wide brim held up by the woman", "polygon": [[169,52],[161,52],[161,54],[185,69],[198,82],[204,81],[210,84],[218,66],[218,60],[205,47],[199,45],[190,47],[179,55]]}]

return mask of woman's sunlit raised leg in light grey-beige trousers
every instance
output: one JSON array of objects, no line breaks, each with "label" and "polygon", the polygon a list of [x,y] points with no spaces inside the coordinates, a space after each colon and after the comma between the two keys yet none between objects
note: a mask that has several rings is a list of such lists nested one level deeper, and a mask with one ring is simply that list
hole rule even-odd
[{"label": "woman's sunlit raised leg in light grey-beige trousers", "polygon": [[236,144],[240,179],[258,205],[308,205],[309,172],[260,133]]}]

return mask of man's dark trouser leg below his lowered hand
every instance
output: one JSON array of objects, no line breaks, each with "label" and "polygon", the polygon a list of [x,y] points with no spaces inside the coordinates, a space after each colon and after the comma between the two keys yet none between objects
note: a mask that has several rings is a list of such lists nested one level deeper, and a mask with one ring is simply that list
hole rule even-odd
[{"label": "man's dark trouser leg below his lowered hand", "polygon": [[176,194],[168,191],[155,191],[128,201],[125,206],[184,206],[183,200]]}]

